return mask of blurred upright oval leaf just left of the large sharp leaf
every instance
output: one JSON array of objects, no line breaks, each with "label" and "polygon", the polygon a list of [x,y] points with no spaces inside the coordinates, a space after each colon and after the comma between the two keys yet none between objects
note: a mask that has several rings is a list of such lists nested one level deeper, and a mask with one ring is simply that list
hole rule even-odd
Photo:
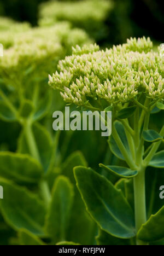
[{"label": "blurred upright oval leaf just left of the large sharp leaf", "polygon": [[69,179],[65,176],[59,176],[52,190],[52,199],[45,225],[46,232],[55,243],[67,240],[73,197],[73,187]]}]

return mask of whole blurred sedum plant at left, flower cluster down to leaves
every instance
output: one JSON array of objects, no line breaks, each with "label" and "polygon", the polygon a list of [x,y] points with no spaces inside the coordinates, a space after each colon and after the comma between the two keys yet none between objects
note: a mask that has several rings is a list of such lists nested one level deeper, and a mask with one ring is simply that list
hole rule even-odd
[{"label": "whole blurred sedum plant at left, flower cluster down to leaves", "polygon": [[[52,245],[63,240],[93,243],[95,224],[71,175],[75,165],[87,163],[80,152],[65,154],[69,152],[67,135],[60,147],[60,133],[49,132],[48,113],[62,106],[47,88],[48,73],[69,55],[72,45],[92,40],[68,22],[25,32],[6,28],[5,33],[13,42],[4,46],[0,57],[0,128],[4,137],[11,133],[11,142],[16,140],[17,145],[12,152],[10,142],[1,146],[0,184],[5,200],[0,201],[0,236],[4,237],[0,243],[45,245],[44,238]],[[0,42],[1,38],[2,30]]]}]

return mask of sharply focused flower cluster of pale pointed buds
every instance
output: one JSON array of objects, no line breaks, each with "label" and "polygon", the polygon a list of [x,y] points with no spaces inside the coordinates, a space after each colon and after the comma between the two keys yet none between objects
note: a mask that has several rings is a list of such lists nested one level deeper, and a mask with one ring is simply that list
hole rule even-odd
[{"label": "sharply focused flower cluster of pale pointed buds", "polygon": [[128,102],[142,92],[153,100],[164,98],[164,67],[150,38],[131,38],[126,44],[99,50],[97,45],[73,49],[58,64],[49,84],[68,103],[84,106],[89,98],[108,103]]}]

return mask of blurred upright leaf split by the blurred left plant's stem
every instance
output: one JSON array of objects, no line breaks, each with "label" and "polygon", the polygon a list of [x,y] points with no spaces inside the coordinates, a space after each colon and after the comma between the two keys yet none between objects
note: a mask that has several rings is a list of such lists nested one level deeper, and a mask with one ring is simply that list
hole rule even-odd
[{"label": "blurred upright leaf split by the blurred left plant's stem", "polygon": [[[39,123],[35,123],[33,125],[32,131],[40,155],[41,164],[43,165],[44,171],[46,172],[48,171],[52,155],[52,139],[49,132]],[[31,155],[24,131],[19,138],[18,152]]]}]

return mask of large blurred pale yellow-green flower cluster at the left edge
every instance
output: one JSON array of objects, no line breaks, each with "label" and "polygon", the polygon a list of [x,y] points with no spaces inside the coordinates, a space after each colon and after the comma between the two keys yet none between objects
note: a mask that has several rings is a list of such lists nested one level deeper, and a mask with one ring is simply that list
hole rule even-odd
[{"label": "large blurred pale yellow-green flower cluster at the left edge", "polygon": [[[13,32],[13,44],[4,50],[0,59],[2,76],[7,74],[25,76],[37,69],[38,76],[47,77],[58,60],[70,54],[72,45],[91,43],[87,34],[80,29],[72,29],[68,22],[55,26],[31,28],[25,32]],[[0,32],[1,42],[1,32]],[[2,42],[3,43],[3,42]]]}]

